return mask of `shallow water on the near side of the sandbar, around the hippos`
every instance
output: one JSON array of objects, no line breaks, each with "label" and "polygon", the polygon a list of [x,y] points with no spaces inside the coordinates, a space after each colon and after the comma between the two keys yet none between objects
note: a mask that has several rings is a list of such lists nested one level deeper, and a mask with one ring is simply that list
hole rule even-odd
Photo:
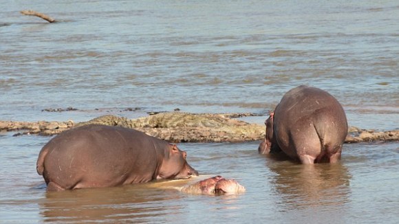
[{"label": "shallow water on the near side of the sandbar, around the hippos", "polygon": [[[17,139],[17,141],[16,141]],[[190,195],[188,181],[45,192],[34,167],[50,137],[1,135],[3,221],[193,223],[396,223],[398,144],[345,144],[341,164],[302,166],[259,155],[257,142],[180,144],[204,177],[223,175],[246,187],[237,196]]]}]

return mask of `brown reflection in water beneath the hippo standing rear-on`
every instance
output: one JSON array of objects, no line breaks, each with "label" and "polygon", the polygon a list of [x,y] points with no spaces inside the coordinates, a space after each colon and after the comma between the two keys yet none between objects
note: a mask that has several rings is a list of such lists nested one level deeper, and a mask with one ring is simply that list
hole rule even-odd
[{"label": "brown reflection in water beneath the hippo standing rear-on", "polygon": [[351,175],[343,164],[293,164],[275,161],[271,183],[285,209],[343,205],[349,201]]}]

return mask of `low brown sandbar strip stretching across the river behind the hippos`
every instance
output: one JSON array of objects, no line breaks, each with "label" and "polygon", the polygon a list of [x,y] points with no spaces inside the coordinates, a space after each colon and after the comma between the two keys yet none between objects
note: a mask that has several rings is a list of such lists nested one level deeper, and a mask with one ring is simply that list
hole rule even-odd
[{"label": "low brown sandbar strip stretching across the river behind the hippos", "polygon": [[[182,112],[157,113],[129,120],[126,117],[104,115],[88,122],[12,122],[0,121],[0,131],[14,131],[17,135],[56,135],[76,126],[105,124],[134,128],[169,142],[246,142],[265,137],[265,126],[250,124],[231,117],[241,114],[194,114]],[[245,114],[242,114],[245,115]],[[349,128],[345,143],[398,142],[399,130],[376,132]]]}]

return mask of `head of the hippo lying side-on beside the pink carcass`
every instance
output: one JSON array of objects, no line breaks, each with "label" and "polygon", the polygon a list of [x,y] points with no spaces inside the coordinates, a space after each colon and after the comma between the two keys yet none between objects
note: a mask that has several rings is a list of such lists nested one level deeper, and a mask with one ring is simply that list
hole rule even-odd
[{"label": "head of the hippo lying side-on beside the pink carcass", "polygon": [[169,144],[166,150],[157,179],[188,179],[198,176],[197,170],[188,165],[186,152],[175,144]]}]

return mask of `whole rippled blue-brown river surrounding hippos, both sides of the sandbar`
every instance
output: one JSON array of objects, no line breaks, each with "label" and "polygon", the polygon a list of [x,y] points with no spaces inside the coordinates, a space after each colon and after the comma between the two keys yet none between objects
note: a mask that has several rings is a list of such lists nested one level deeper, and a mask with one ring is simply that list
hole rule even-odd
[{"label": "whole rippled blue-brown river surrounding hippos, both sides of the sandbar", "polygon": [[[311,85],[343,104],[351,126],[399,128],[398,1],[6,4],[0,120],[176,108],[266,115],[283,93]],[[19,14],[27,9],[58,23]],[[42,111],[67,107],[78,111]],[[265,115],[246,120],[262,124]],[[399,222],[397,142],[345,144],[334,166],[276,161],[257,154],[258,142],[180,144],[203,177],[237,179],[247,192],[186,195],[169,186],[186,182],[175,181],[54,194],[35,167],[50,137],[12,134],[0,133],[0,222]]]}]

